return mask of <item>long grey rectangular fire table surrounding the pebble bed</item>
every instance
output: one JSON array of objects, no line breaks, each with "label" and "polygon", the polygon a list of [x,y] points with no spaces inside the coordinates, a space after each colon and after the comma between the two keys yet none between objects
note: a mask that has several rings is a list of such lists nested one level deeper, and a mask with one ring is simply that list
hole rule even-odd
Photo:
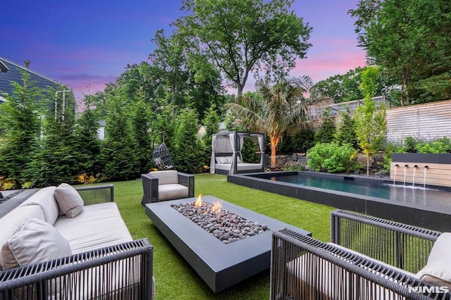
[{"label": "long grey rectangular fire table surrounding the pebble bed", "polygon": [[252,222],[266,224],[268,230],[252,237],[224,244],[189,218],[171,207],[193,203],[195,198],[154,202],[146,205],[146,214],[169,242],[185,258],[202,280],[215,292],[222,292],[269,268],[272,232],[286,227],[302,235],[310,232],[249,211],[214,196],[203,196],[210,204],[221,201],[222,208]]}]

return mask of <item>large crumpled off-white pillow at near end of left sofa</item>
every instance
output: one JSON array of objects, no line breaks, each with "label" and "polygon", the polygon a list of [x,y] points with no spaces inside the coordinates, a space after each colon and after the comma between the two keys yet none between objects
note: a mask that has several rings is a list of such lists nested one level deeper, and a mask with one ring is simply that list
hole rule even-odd
[{"label": "large crumpled off-white pillow at near end of left sofa", "polygon": [[32,218],[1,247],[4,270],[70,256],[68,241],[49,223]]}]

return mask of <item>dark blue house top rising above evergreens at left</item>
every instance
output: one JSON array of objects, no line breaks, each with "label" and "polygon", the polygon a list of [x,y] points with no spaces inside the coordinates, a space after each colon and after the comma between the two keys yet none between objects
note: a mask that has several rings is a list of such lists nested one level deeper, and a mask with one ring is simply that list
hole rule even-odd
[{"label": "dark blue house top rising above evergreens at left", "polygon": [[[54,89],[61,89],[61,87],[64,87],[64,85],[61,85],[61,83],[57,82],[56,80],[51,80],[48,77],[45,77],[44,75],[41,75],[39,73],[36,73],[35,71],[30,70],[30,68],[25,68],[22,65],[18,65],[17,63],[13,63],[12,61],[8,61],[6,58],[0,57],[0,67],[1,65],[5,65],[5,67],[8,69],[7,73],[4,73],[3,68],[1,69],[1,75],[0,75],[0,101],[1,99],[1,92],[6,92],[8,94],[11,94],[13,92],[13,86],[11,85],[11,82],[22,82],[22,74],[21,72],[25,71],[28,74],[30,74],[30,80],[32,82],[35,82],[35,86],[41,88],[41,89],[48,89],[49,87],[53,87]],[[73,92],[70,92],[73,95]]]}]

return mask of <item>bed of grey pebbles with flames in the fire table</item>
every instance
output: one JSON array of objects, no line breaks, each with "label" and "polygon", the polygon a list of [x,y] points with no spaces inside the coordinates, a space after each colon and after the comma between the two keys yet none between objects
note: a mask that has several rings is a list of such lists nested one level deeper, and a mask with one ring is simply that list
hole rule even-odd
[{"label": "bed of grey pebbles with flames in the fire table", "polygon": [[199,201],[199,198],[194,203],[172,204],[171,207],[224,244],[252,237],[268,230],[266,224],[260,225],[258,222],[252,222],[240,215],[230,213],[228,209],[218,207],[217,203],[210,204]]}]

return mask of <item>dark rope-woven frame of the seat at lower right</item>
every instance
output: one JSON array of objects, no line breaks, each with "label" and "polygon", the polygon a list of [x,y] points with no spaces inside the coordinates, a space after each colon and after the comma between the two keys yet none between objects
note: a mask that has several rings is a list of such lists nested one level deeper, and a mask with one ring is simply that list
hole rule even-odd
[{"label": "dark rope-woven frame of the seat at lower right", "polygon": [[426,265],[439,235],[341,210],[330,215],[331,243],[278,230],[270,299],[451,299],[412,274]]}]

